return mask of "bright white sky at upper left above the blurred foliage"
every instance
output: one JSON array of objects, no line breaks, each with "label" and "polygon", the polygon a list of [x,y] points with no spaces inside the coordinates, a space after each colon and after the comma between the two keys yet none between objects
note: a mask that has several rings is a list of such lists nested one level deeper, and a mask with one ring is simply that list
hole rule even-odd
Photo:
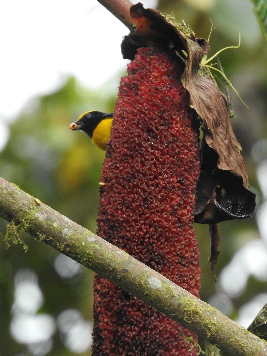
[{"label": "bright white sky at upper left above the blurred foliage", "polygon": [[0,120],[69,74],[96,88],[126,67],[120,44],[129,30],[96,0],[1,1],[0,33]]}]

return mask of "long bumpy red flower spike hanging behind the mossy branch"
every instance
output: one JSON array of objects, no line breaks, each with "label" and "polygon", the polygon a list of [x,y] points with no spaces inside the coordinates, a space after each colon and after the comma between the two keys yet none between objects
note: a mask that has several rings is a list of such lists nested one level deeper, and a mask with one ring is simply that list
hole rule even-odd
[{"label": "long bumpy red flower spike hanging behind the mossy branch", "polygon": [[[101,175],[98,234],[199,296],[198,129],[182,70],[171,55],[141,48],[121,79]],[[198,354],[191,331],[100,276],[94,320],[94,356]]]}]

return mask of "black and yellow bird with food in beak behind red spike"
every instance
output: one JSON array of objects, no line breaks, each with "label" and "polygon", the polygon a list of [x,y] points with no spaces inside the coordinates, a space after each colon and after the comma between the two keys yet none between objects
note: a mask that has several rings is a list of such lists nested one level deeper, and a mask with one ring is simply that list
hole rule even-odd
[{"label": "black and yellow bird with food in beak behind red spike", "polygon": [[92,142],[101,150],[106,151],[110,136],[113,112],[87,111],[80,115],[77,121],[70,124],[70,130],[82,130],[91,138]]}]

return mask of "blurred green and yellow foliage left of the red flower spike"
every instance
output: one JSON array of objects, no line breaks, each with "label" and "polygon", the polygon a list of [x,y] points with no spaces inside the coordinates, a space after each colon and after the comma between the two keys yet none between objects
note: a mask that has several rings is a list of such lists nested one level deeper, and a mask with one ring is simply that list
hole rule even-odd
[{"label": "blurred green and yellow foliage left of the red flower spike", "polygon": [[[0,156],[2,177],[93,232],[105,153],[84,133],[69,130],[69,125],[91,108],[111,112],[116,93],[110,95],[103,98],[101,90],[92,92],[82,88],[75,78],[69,78],[57,92],[35,98],[10,125],[9,140]],[[5,225],[1,219],[2,235]],[[6,250],[3,239],[0,240],[0,344],[5,355],[26,350],[9,333],[14,278],[21,269],[37,273],[44,295],[39,312],[57,317],[65,309],[77,308],[83,310],[87,320],[92,320],[93,273],[82,268],[82,273],[72,278],[60,277],[54,268],[58,252],[26,234],[22,236],[27,253],[21,245]],[[62,345],[59,334],[54,345],[53,355],[72,355]]]}]

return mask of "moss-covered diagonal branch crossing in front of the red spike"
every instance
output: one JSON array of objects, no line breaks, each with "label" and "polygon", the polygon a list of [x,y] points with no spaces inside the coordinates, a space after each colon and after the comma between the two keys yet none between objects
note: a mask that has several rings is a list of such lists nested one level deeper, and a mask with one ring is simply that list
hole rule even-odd
[{"label": "moss-covered diagonal branch crossing in front of the red spike", "polygon": [[266,356],[267,343],[124,251],[0,178],[0,216],[101,274],[229,355]]}]

